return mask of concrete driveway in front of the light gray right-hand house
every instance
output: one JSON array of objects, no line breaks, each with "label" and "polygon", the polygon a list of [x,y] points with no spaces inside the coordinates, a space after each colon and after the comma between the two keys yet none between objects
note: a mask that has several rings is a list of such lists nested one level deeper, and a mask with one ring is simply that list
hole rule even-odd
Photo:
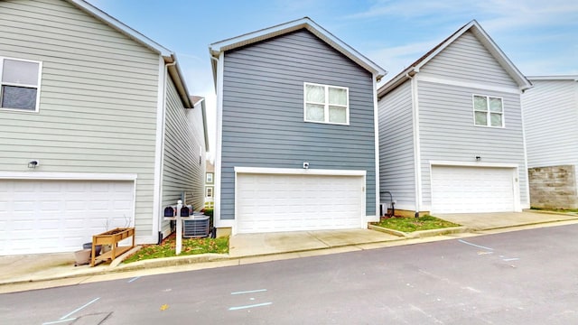
[{"label": "concrete driveway in front of the light gray right-hand house", "polygon": [[435,217],[452,221],[472,230],[490,230],[573,220],[577,219],[578,215],[526,210],[523,212],[435,214]]}]

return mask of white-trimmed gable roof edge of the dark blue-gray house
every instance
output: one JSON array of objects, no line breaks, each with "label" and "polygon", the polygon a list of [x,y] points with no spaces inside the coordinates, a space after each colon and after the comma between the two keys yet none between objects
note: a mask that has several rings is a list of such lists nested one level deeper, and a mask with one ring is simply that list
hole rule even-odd
[{"label": "white-trimmed gable roof edge of the dark blue-gray house", "polygon": [[[350,60],[353,60],[359,64],[359,66],[371,72],[377,81],[379,81],[387,74],[386,70],[383,70],[376,63],[351,48],[350,45],[342,42],[340,39],[331,34],[331,32],[326,31],[324,28],[322,28],[322,26],[313,22],[309,17],[303,17],[301,19],[297,19],[288,23],[278,24],[276,26],[265,28],[256,32],[249,32],[220,42],[214,42],[209,45],[210,56],[212,58],[218,59],[221,52],[237,49],[239,47],[246,46],[255,42],[262,42],[289,32],[298,31],[300,29],[306,29],[307,31],[312,32],[313,35],[320,38],[323,42],[329,44],[333,49],[340,51]],[[215,82],[217,82],[217,62],[215,60],[211,60],[211,64],[213,68],[213,78],[215,79]]]}]

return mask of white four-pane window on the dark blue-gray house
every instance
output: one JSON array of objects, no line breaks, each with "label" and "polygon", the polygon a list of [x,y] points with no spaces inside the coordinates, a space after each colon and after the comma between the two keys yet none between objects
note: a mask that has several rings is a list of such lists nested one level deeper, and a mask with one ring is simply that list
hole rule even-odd
[{"label": "white four-pane window on the dark blue-gray house", "polygon": [[305,122],[350,124],[349,88],[304,84]]}]

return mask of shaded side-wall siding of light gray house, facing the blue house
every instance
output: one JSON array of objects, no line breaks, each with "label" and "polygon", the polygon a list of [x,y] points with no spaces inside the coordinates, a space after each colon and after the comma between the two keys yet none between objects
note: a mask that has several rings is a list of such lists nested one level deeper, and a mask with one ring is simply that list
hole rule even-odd
[{"label": "shaded side-wall siding of light gray house, facing the blue house", "polygon": [[[390,191],[400,209],[415,207],[411,81],[381,98],[378,107],[380,191]],[[389,197],[381,194],[381,202],[389,202]]]}]

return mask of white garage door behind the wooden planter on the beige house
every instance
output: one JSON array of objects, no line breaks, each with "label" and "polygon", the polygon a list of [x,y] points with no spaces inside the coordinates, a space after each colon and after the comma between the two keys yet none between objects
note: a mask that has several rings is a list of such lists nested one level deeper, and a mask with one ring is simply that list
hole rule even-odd
[{"label": "white garage door behind the wooden planter on the beige house", "polygon": [[133,181],[0,180],[0,255],[71,252],[133,222]]}]

